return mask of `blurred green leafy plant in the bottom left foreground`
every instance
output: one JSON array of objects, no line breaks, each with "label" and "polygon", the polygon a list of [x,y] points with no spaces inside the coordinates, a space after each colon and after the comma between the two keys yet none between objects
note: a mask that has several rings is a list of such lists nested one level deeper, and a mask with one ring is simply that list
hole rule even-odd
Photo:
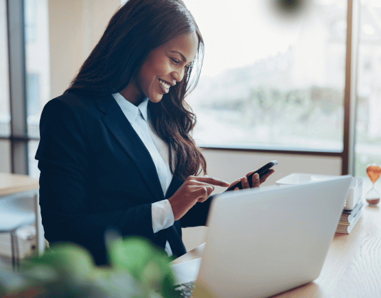
[{"label": "blurred green leafy plant in the bottom left foreground", "polygon": [[83,247],[56,245],[18,272],[0,267],[0,297],[174,297],[171,259],[147,240],[114,238],[108,260],[98,267]]}]

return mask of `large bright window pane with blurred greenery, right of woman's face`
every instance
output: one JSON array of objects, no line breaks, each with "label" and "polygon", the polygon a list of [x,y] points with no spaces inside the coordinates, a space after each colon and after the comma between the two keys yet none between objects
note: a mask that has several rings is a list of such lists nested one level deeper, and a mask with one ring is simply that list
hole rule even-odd
[{"label": "large bright window pane with blurred greenery, right of woman's face", "polygon": [[187,100],[196,142],[342,151],[347,2],[305,1],[298,12],[266,3],[186,1],[205,40]]}]

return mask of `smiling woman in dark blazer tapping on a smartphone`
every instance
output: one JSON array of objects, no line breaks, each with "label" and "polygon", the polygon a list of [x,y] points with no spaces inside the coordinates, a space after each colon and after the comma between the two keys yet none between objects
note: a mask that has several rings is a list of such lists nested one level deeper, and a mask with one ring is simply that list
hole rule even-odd
[{"label": "smiling woman in dark blazer tapping on a smartphone", "polygon": [[168,255],[186,252],[181,227],[205,225],[213,186],[229,186],[196,176],[206,162],[184,97],[202,61],[203,38],[182,1],[119,8],[71,86],[41,114],[36,159],[49,243],[78,243],[105,264],[104,233],[113,228]]}]

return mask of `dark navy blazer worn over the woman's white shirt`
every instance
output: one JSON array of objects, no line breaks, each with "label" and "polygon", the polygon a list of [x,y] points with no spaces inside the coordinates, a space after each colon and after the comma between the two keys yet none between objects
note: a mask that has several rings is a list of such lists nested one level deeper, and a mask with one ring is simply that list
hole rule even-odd
[{"label": "dark navy blazer worn over the woman's white shirt", "polygon": [[[181,227],[205,225],[211,199],[154,234],[151,204],[164,198],[154,162],[112,95],[68,92],[41,114],[36,152],[40,206],[49,243],[72,242],[106,264],[104,233],[142,236],[174,256],[186,252]],[[183,181],[172,179],[166,199]]]}]

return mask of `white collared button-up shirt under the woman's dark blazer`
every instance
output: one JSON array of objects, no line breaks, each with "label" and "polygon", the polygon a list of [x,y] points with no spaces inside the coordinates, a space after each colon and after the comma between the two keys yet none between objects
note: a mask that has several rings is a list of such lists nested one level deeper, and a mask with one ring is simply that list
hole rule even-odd
[{"label": "white collared button-up shirt under the woman's dark blazer", "polygon": [[[169,149],[168,144],[157,135],[152,126],[148,116],[148,98],[136,106],[119,93],[113,94],[113,97],[132,128],[135,129],[139,138],[146,145],[157,169],[157,175],[159,176],[161,188],[165,196],[173,176],[170,171]],[[168,199],[152,203],[152,229],[154,233],[159,232],[161,229],[166,229],[173,224],[174,215]],[[168,256],[172,256],[172,249],[168,241],[165,244],[165,251],[168,253]]]}]

